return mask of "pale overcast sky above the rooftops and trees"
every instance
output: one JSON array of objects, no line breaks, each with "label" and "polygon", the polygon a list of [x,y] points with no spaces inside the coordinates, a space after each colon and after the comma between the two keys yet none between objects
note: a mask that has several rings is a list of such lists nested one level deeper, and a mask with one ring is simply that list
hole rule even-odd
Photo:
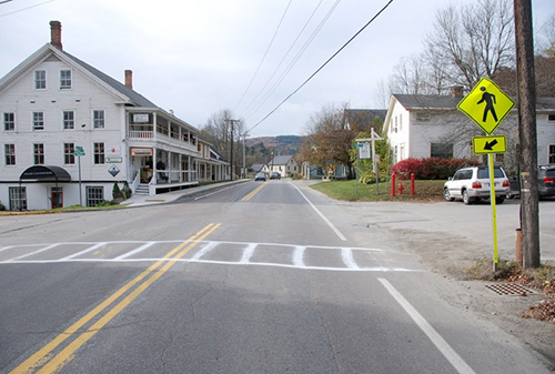
[{"label": "pale overcast sky above the rooftops and trees", "polygon": [[[0,4],[0,77],[58,20],[67,52],[121,82],[132,70],[135,91],[192,125],[230,109],[256,125],[251,137],[303,134],[325,105],[381,109],[379,82],[423,50],[436,10],[476,1],[394,0],[259,125],[389,0],[12,0]],[[555,12],[554,0],[532,2],[536,24]]]}]

